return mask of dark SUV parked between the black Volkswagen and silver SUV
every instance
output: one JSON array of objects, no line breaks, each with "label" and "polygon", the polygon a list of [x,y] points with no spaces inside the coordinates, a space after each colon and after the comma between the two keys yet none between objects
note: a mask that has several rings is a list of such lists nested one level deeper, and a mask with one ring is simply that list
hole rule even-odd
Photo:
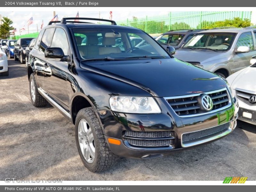
[{"label": "dark SUV parked between the black Volkswagen and silver SUV", "polygon": [[205,29],[171,30],[156,37],[156,41],[158,41],[164,48],[166,48],[166,46],[172,46],[177,50],[198,32],[204,30]]}]

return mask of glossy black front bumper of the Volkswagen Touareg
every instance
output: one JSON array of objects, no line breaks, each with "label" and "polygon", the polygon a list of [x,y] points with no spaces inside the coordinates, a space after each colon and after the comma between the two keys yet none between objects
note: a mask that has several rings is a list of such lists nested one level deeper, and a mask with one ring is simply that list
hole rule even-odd
[{"label": "glossy black front bumper of the Volkswagen Touareg", "polygon": [[[218,140],[228,135],[236,127],[237,114],[235,111],[238,109],[234,103],[232,103],[231,107],[216,113],[181,118],[176,115],[170,106],[165,105],[164,98],[156,98],[156,100],[162,109],[161,114],[123,114],[105,110],[98,111],[105,134],[105,139],[107,141],[108,138],[116,139],[121,143],[120,145],[111,143],[108,144],[110,150],[114,154],[131,158],[161,157],[175,151],[194,148],[214,140]],[[201,134],[202,130],[204,130],[203,132],[211,132],[212,128],[221,128],[221,126],[224,125],[226,127],[220,129],[219,132],[206,135],[205,137],[198,140],[193,140],[192,142],[185,142],[184,138],[182,138],[184,135],[189,135],[190,133],[191,135],[199,132]],[[131,140],[129,140],[130,138],[126,136],[126,131],[135,133],[169,131],[171,132],[170,137],[168,138],[168,140],[170,140],[170,145],[165,147],[147,147],[142,146],[141,142],[138,141],[138,145],[141,146],[134,146],[131,144]],[[147,140],[153,139],[147,138]],[[161,140],[164,139],[162,138]]]}]

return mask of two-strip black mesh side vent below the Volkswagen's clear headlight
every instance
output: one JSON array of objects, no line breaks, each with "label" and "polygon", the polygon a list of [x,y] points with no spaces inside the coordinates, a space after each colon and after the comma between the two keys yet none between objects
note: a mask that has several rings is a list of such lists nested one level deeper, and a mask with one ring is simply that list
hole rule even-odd
[{"label": "two-strip black mesh side vent below the Volkswagen's clear headlight", "polygon": [[171,131],[125,131],[123,138],[130,146],[140,148],[169,147],[174,139]]}]

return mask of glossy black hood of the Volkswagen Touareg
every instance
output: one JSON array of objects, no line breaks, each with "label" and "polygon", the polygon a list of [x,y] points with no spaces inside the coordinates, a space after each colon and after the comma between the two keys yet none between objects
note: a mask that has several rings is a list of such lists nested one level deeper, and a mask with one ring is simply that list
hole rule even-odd
[{"label": "glossy black hood of the Volkswagen Touareg", "polygon": [[132,84],[156,97],[208,92],[226,87],[218,75],[176,58],[82,61],[81,68]]}]

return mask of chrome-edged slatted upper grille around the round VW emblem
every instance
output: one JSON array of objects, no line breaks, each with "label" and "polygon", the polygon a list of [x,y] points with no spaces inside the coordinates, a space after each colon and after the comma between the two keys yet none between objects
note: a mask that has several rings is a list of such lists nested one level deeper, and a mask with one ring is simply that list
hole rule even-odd
[{"label": "chrome-edged slatted upper grille around the round VW emblem", "polygon": [[[204,93],[189,95],[188,97],[185,96],[181,98],[167,98],[166,100],[175,113],[179,116],[206,113],[207,111],[201,109],[201,106],[197,100],[197,97],[199,97],[201,94]],[[208,94],[212,98],[212,110],[228,106],[229,97],[227,89],[217,90],[216,92],[206,92],[205,94]]]}]

